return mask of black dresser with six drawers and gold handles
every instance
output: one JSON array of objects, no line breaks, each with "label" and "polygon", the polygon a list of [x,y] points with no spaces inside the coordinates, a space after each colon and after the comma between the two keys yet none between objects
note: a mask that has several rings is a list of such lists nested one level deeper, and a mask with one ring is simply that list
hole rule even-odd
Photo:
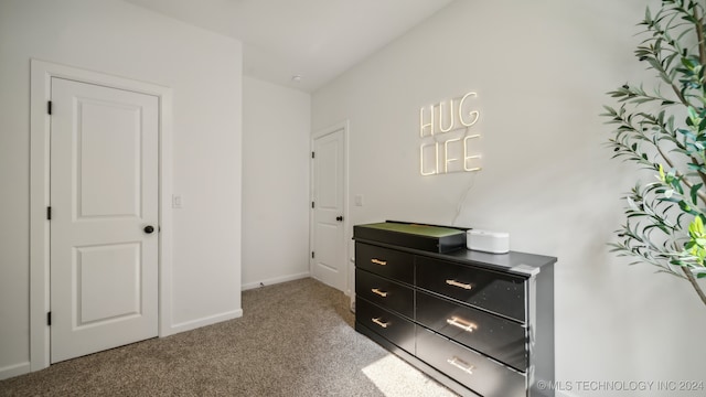
[{"label": "black dresser with six drawers and gold handles", "polygon": [[354,238],[357,332],[461,395],[554,396],[556,258]]}]

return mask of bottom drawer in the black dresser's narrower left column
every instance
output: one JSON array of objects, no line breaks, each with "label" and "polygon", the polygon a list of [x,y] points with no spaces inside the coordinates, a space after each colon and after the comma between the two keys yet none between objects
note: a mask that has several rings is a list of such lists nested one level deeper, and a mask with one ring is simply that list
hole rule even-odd
[{"label": "bottom drawer in the black dresser's narrower left column", "polygon": [[415,324],[365,299],[355,301],[355,321],[415,354]]}]

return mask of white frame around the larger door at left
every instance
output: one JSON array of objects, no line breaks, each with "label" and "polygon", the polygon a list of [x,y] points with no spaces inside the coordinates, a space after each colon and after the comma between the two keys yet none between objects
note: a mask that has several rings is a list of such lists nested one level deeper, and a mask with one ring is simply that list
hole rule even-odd
[{"label": "white frame around the larger door at left", "polygon": [[52,77],[159,98],[159,336],[170,334],[172,269],[172,89],[169,87],[32,58],[30,61],[30,371],[50,365],[50,116]]}]

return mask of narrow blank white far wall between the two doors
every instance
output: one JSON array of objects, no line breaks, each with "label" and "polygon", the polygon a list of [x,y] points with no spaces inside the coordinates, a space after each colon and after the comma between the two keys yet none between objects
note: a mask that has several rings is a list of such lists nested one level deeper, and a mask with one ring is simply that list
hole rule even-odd
[{"label": "narrow blank white far wall between the two doors", "polygon": [[309,276],[311,96],[243,78],[243,288]]}]

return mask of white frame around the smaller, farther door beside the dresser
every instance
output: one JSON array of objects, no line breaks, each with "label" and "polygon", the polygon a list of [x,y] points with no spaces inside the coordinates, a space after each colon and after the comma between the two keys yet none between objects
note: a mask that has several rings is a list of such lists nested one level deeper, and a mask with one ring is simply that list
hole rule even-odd
[{"label": "white frame around the smaller, farther door beside the dresser", "polygon": [[[350,121],[344,120],[333,126],[320,129],[311,135],[311,141],[309,142],[309,151],[314,151],[314,141],[319,138],[325,137],[329,133],[336,132],[339,130],[343,130],[343,258],[341,258],[343,262],[343,268],[345,270],[345,291],[343,291],[346,296],[352,296],[352,277],[351,277],[351,261],[350,258],[350,247],[349,242],[353,237],[352,232],[349,230],[349,130],[350,130]],[[311,183],[309,184],[309,202],[314,200],[314,167],[313,160],[311,159],[309,162],[309,180]],[[311,253],[314,250],[314,211],[313,208],[309,208],[309,273],[313,275],[313,265],[314,260],[311,258]]]}]

